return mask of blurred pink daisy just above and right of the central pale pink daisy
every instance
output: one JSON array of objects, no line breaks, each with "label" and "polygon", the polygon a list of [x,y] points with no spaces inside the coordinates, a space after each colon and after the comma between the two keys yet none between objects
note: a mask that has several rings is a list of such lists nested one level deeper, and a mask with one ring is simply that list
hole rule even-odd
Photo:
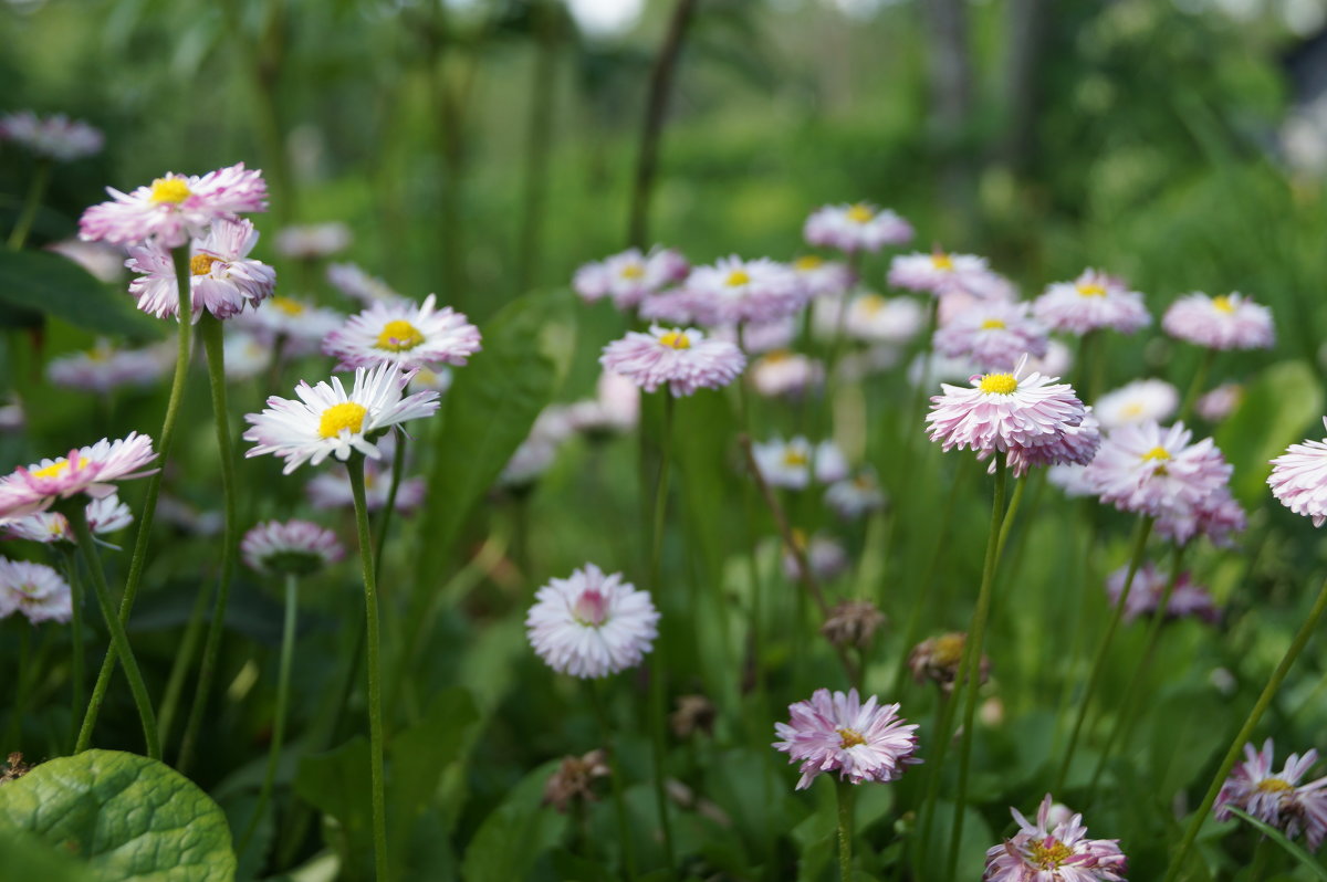
[{"label": "blurred pink daisy just above and right of the central pale pink daisy", "polygon": [[736,255],[693,269],[679,296],[702,325],[775,321],[807,302],[807,292],[788,265]]}]

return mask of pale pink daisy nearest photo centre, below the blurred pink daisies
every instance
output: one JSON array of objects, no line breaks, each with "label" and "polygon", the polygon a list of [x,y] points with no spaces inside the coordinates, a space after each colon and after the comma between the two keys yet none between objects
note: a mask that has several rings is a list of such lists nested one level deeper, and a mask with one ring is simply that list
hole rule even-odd
[{"label": "pale pink daisy nearest photo centre, below the blurred pink daisies", "polygon": [[671,330],[652,325],[649,333],[628,332],[604,346],[598,362],[653,393],[667,385],[674,398],[697,389],[722,389],[746,367],[746,355],[730,342],[707,340],[695,328]]}]

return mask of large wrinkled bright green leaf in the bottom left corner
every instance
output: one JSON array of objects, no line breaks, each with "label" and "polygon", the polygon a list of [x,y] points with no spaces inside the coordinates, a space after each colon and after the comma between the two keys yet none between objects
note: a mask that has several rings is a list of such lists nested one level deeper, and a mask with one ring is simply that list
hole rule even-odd
[{"label": "large wrinkled bright green leaf in the bottom left corner", "polygon": [[235,877],[220,808],[183,775],[146,756],[86,751],[42,763],[0,788],[0,824],[85,858],[96,879]]}]

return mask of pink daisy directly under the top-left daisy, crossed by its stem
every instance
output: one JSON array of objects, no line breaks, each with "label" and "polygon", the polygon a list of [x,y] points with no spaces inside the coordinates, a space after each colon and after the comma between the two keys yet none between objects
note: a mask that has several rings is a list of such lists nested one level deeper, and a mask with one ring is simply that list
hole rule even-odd
[{"label": "pink daisy directly under the top-left daisy, crossed by its stem", "polygon": [[[231,318],[272,296],[276,271],[248,259],[256,244],[253,224],[228,219],[218,219],[206,236],[194,241],[188,281],[195,322],[204,309],[218,318]],[[175,264],[159,240],[130,247],[125,265],[139,273],[129,283],[129,293],[138,298],[141,310],[158,318],[179,314]]]}]

